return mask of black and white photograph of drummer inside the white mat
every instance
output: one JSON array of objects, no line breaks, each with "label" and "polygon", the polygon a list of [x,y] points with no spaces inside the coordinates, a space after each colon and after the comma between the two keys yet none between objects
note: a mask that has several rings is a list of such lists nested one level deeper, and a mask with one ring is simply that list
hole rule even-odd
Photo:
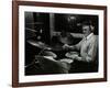
[{"label": "black and white photograph of drummer inside the white mat", "polygon": [[25,75],[98,72],[98,15],[25,12]]}]

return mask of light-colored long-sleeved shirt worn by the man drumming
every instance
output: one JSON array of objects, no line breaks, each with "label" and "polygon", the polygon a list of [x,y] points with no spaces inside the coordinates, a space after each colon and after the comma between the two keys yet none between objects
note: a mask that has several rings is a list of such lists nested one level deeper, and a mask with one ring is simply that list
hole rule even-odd
[{"label": "light-colored long-sleeved shirt worn by the man drumming", "polygon": [[78,58],[85,62],[94,62],[98,51],[98,36],[90,33],[75,46],[80,51],[80,56]]}]

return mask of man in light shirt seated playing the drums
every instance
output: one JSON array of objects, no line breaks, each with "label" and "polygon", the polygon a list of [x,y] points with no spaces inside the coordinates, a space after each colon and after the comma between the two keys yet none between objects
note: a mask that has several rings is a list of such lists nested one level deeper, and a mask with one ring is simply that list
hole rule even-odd
[{"label": "man in light shirt seated playing the drums", "polygon": [[84,22],[84,38],[76,45],[69,46],[66,44],[63,46],[65,50],[79,50],[79,55],[72,56],[74,61],[77,61],[74,62],[77,63],[77,67],[74,67],[74,69],[78,69],[77,72],[97,70],[97,66],[95,67],[95,63],[97,62],[98,54],[98,37],[94,34],[94,26],[89,22]]}]

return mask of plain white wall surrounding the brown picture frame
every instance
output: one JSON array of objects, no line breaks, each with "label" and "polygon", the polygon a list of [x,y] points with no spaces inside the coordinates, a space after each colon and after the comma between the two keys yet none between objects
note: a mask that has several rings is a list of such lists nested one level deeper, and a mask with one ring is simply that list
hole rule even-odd
[{"label": "plain white wall surrounding the brown picture frame", "polygon": [[[31,0],[32,1],[32,0]],[[47,2],[63,3],[81,3],[81,4],[98,4],[108,6],[108,20],[110,23],[110,1],[109,0],[33,0]],[[109,25],[109,24],[108,24]],[[109,30],[108,26],[108,38]],[[108,42],[108,45],[110,41]],[[110,52],[108,46],[108,54]],[[110,54],[108,55],[110,57]],[[108,62],[110,62],[108,57]],[[108,74],[110,74],[110,64],[108,65]],[[12,2],[11,0],[0,0],[0,88],[11,88],[12,73]],[[89,84],[72,84],[58,86],[43,86],[34,88],[110,88],[110,76],[107,82],[89,82]],[[32,88],[32,87],[30,87]]]}]

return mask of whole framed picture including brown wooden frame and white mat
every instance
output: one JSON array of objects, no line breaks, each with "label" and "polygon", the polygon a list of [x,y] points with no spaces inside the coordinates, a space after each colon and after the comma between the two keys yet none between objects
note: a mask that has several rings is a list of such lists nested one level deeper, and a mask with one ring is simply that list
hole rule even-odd
[{"label": "whole framed picture including brown wooden frame and white mat", "polygon": [[13,3],[14,86],[107,80],[107,8]]}]

